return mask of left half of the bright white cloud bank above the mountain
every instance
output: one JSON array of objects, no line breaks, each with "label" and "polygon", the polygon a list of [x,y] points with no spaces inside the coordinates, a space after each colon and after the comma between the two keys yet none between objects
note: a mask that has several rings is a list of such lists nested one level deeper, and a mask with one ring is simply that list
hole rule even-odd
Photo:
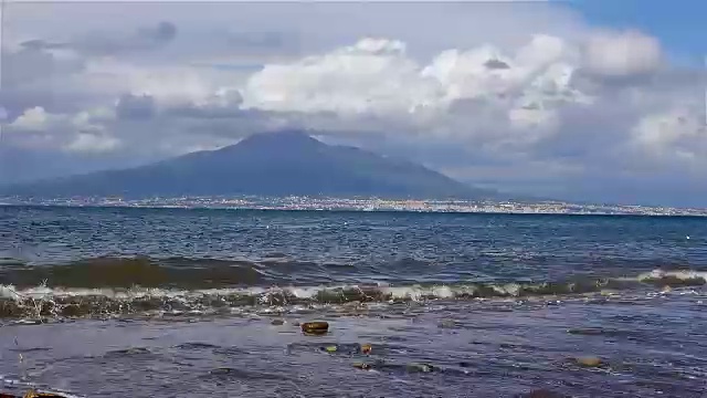
[{"label": "left half of the bright white cloud bank above the mountain", "polygon": [[266,65],[243,91],[243,107],[278,112],[335,112],[344,116],[408,113],[435,96],[405,44],[362,39],[293,64]]}]

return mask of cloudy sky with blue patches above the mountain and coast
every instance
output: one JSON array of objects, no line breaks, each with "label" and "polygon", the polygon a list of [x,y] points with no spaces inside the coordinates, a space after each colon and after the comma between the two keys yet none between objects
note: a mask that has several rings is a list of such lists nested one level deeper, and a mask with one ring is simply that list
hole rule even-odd
[{"label": "cloudy sky with blue patches above the mountain and coast", "polygon": [[307,128],[461,181],[707,207],[700,1],[6,6],[0,184]]}]

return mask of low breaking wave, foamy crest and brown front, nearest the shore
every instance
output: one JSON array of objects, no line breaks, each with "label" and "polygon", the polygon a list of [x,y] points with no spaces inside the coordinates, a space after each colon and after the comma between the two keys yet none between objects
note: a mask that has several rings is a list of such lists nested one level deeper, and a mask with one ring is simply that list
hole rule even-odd
[{"label": "low breaking wave, foamy crest and brown front, nearest the shore", "polygon": [[655,270],[635,277],[578,279],[572,282],[460,283],[437,285],[319,285],[179,290],[131,286],[76,289],[0,285],[0,317],[120,316],[140,313],[222,314],[242,307],[285,307],[346,303],[404,303],[432,300],[475,300],[567,296],[605,291],[701,286],[707,272]]}]

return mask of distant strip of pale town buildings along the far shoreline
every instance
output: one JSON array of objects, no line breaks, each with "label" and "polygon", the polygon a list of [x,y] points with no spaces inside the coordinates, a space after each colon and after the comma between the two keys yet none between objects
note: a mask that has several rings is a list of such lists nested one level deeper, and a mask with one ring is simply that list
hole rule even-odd
[{"label": "distant strip of pale town buildings along the far shoreline", "polygon": [[128,200],[123,198],[27,199],[0,198],[3,206],[127,207],[183,209],[251,209],[251,210],[329,210],[329,211],[415,211],[519,214],[635,214],[635,216],[707,216],[707,209],[623,205],[578,205],[562,201],[456,201],[393,200],[377,198],[315,197],[181,197]]}]

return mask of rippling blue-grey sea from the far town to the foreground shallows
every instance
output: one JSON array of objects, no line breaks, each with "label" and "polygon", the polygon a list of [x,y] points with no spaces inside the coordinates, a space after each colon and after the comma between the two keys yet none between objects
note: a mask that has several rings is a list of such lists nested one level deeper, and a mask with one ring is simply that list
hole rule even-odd
[{"label": "rippling blue-grey sea from the far town to the foreground shallows", "polygon": [[6,206],[0,387],[704,398],[706,279],[704,218]]}]

